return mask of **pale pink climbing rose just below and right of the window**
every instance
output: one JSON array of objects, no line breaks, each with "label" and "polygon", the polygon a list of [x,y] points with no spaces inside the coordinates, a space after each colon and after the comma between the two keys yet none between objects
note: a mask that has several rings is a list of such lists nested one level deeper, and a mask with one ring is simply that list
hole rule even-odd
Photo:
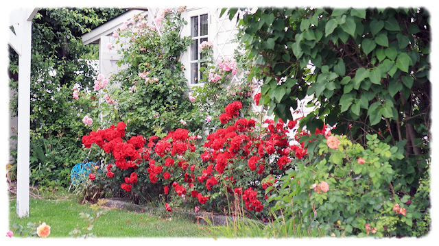
[{"label": "pale pink climbing rose just below and right of the window", "polygon": [[222,127],[218,116],[233,101],[242,103],[241,116],[249,116],[252,93],[257,87],[248,80],[246,51],[239,47],[233,58],[214,60],[212,48],[213,43],[210,41],[204,41],[200,45],[202,58],[199,64],[202,78],[199,83],[203,83],[203,86],[195,86],[191,94],[197,109],[202,108],[204,112],[198,116],[199,112],[193,111],[193,115],[206,119],[205,127],[211,131]]}]

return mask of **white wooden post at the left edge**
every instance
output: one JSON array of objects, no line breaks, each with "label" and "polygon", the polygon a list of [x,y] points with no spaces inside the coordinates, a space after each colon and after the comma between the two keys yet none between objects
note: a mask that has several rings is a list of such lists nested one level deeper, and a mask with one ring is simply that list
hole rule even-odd
[{"label": "white wooden post at the left edge", "polygon": [[30,145],[30,63],[32,19],[34,10],[17,10],[10,16],[10,46],[19,54],[19,105],[17,141],[17,195],[18,217],[29,216],[29,145]]}]

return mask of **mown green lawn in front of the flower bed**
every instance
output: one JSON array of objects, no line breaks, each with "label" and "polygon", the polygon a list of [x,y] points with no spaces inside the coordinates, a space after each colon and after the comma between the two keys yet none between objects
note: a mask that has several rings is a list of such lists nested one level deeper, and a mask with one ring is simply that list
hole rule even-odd
[{"label": "mown green lawn in front of the flower bed", "polygon": [[[41,221],[51,226],[51,238],[71,237],[69,232],[76,227],[83,229],[87,223],[81,219],[80,212],[95,214],[91,204],[78,204],[69,193],[44,195],[43,199],[29,200],[29,217],[16,216],[16,200],[10,201],[10,226],[17,223],[26,227],[27,223]],[[196,221],[187,215],[176,212],[158,212],[157,214],[137,213],[107,208],[106,213],[95,221],[93,234],[97,237],[202,237]],[[14,230],[12,230],[14,232]],[[14,236],[18,236],[14,234]]]}]

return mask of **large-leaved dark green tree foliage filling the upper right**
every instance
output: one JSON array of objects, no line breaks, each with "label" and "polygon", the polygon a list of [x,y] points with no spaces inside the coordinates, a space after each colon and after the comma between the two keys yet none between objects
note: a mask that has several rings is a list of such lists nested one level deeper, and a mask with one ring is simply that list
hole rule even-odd
[{"label": "large-leaved dark green tree foliage filling the upper right", "polygon": [[[317,109],[300,121],[335,125],[362,145],[367,134],[399,148],[396,195],[415,195],[429,167],[430,24],[424,9],[259,8],[242,17],[241,41],[263,80],[261,102],[292,119],[298,100]],[[291,110],[292,109],[292,110]],[[305,140],[305,139],[304,139]],[[428,206],[428,205],[427,205]],[[425,212],[426,206],[421,210]]]}]

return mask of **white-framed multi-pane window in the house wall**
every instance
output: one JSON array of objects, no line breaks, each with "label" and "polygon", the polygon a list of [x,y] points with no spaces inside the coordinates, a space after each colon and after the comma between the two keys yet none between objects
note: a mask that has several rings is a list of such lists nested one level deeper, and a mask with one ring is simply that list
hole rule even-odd
[{"label": "white-framed multi-pane window in the house wall", "polygon": [[[191,37],[193,44],[190,49],[190,64],[191,64],[191,79],[190,84],[198,84],[198,81],[202,77],[202,72],[200,67],[205,67],[204,63],[198,64],[198,60],[202,58],[202,53],[200,53],[200,44],[207,41],[208,37],[208,15],[200,14],[196,16],[191,16]],[[199,67],[200,66],[200,67]]]}]

